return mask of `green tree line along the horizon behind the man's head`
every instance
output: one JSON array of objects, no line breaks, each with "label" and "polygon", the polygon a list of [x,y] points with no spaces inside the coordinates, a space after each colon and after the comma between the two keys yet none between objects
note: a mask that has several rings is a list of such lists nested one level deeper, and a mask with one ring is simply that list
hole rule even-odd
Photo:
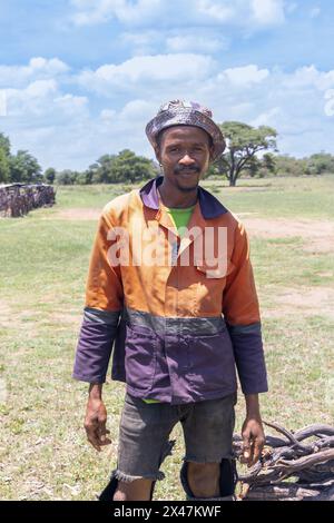
[{"label": "green tree line along the horizon behind the man's head", "polygon": [[[228,142],[226,151],[210,165],[206,178],[227,178],[235,186],[240,176],[312,176],[334,174],[334,156],[321,151],[305,158],[278,155],[277,131],[238,121],[226,121],[220,129]],[[26,150],[11,154],[10,139],[0,132],[0,184],[136,184],[160,172],[156,161],[129,149],[117,155],[104,155],[84,171],[50,167],[42,171],[38,160]]]}]

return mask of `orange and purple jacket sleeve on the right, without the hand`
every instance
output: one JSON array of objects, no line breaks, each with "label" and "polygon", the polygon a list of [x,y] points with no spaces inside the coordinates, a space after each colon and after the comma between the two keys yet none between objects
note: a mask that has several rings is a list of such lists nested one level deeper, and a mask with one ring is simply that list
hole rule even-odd
[{"label": "orange and purple jacket sleeve on the right, without the hand", "polygon": [[244,226],[235,230],[232,264],[223,295],[223,313],[230,335],[236,367],[244,394],[268,391],[261,316],[249,241]]}]

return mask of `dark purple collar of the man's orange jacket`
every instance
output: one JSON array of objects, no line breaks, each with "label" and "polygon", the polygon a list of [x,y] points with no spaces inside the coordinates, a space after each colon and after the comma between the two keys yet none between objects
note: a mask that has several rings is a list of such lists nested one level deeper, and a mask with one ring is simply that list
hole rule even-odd
[{"label": "dark purple collar of the man's orange jacket", "polygon": [[[140,198],[146,207],[156,210],[159,209],[158,186],[163,180],[164,176],[158,176],[145,184],[145,186],[139,190]],[[218,216],[228,213],[228,209],[224,207],[224,205],[220,204],[220,201],[208,190],[198,186],[197,191],[200,211],[205,219],[217,218]]]}]

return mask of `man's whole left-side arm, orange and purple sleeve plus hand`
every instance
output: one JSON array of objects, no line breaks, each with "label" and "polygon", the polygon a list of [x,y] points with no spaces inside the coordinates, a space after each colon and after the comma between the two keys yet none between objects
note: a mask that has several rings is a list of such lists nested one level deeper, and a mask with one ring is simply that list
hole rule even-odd
[{"label": "man's whole left-side arm, orange and purple sleeve plus hand", "polygon": [[88,441],[98,452],[110,443],[102,384],[124,304],[119,266],[114,267],[108,259],[108,249],[115,243],[115,239],[108,239],[110,229],[112,226],[104,209],[90,256],[86,306],[73,368],[76,379],[90,384],[85,430]]}]

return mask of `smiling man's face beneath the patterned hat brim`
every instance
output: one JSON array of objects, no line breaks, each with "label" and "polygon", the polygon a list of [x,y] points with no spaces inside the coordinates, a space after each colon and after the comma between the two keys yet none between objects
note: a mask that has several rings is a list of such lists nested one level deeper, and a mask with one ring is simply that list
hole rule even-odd
[{"label": "smiling man's face beneath the patterned hat brim", "polygon": [[163,131],[156,156],[165,178],[179,190],[194,190],[206,172],[210,154],[209,136],[199,127],[175,126]]}]

